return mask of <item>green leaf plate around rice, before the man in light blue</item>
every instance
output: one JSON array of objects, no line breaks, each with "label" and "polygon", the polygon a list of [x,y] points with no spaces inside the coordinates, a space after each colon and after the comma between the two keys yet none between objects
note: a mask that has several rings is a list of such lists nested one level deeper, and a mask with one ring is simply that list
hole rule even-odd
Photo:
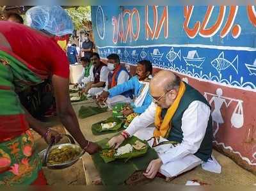
[{"label": "green leaf plate around rice, before the man in light blue", "polygon": [[[116,125],[113,126],[113,128],[102,129],[101,123],[110,123],[110,122],[116,122]],[[102,134],[119,132],[120,130],[124,130],[123,125],[124,125],[124,121],[122,121],[122,119],[111,117],[104,121],[94,123],[92,125],[92,134],[93,135],[102,135]]]}]

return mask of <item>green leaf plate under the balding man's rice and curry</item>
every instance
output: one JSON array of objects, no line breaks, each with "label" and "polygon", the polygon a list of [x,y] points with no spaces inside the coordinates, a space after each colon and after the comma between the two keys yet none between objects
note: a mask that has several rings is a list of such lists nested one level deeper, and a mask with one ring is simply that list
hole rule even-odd
[{"label": "green leaf plate under the balding man's rice and curry", "polygon": [[116,159],[122,159],[122,160],[124,160],[124,162],[127,162],[127,160],[129,160],[131,158],[141,157],[141,156],[145,155],[145,153],[147,153],[147,150],[148,150],[147,141],[141,141],[137,137],[132,136],[129,139],[125,139],[125,141],[120,146],[124,146],[125,144],[128,144],[128,143],[132,145],[136,141],[140,141],[140,142],[145,143],[146,147],[144,149],[140,149],[140,150],[132,149],[131,153],[125,153],[124,155],[119,155],[119,156],[115,156],[115,153],[116,153],[116,150],[115,150],[113,157],[106,157],[105,155],[103,155],[103,153],[109,151],[110,148],[108,148],[108,145],[107,145],[105,147],[106,149],[103,149],[104,147],[102,148],[102,152],[100,153],[100,157],[102,157],[102,159],[106,163],[111,162],[111,161],[116,160]]}]

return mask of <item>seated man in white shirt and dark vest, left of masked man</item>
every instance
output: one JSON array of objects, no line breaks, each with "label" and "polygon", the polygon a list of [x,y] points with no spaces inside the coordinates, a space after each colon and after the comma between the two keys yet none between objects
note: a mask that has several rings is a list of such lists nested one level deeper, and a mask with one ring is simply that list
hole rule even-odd
[{"label": "seated man in white shirt and dark vest, left of masked man", "polygon": [[86,87],[82,89],[79,93],[89,94],[90,96],[95,96],[106,86],[106,81],[108,80],[108,67],[100,61],[100,56],[97,52],[92,53],[91,57],[92,67],[90,69],[90,82],[86,84]]}]

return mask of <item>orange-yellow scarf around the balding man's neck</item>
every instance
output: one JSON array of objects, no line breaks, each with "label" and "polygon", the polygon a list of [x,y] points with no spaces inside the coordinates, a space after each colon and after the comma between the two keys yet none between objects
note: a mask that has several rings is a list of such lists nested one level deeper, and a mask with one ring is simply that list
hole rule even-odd
[{"label": "orange-yellow scarf around the balding man's neck", "polygon": [[177,95],[177,98],[174,100],[173,104],[167,110],[166,115],[164,116],[164,119],[161,118],[162,108],[157,106],[156,115],[155,115],[156,128],[154,130],[154,137],[166,138],[169,135],[169,132],[172,128],[172,126],[170,126],[172,117],[175,114],[177,108],[179,107],[180,100],[184,95],[185,90],[186,90],[186,86],[184,82],[180,82],[180,88],[179,88],[179,93]]}]

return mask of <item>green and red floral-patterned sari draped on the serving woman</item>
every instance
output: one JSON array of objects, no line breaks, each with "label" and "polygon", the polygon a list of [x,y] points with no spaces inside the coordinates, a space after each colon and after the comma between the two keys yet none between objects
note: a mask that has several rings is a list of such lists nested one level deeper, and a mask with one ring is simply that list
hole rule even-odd
[{"label": "green and red floral-patterned sari draped on the serving woman", "polygon": [[0,186],[30,185],[42,168],[16,94],[40,82],[31,66],[0,47]]}]

